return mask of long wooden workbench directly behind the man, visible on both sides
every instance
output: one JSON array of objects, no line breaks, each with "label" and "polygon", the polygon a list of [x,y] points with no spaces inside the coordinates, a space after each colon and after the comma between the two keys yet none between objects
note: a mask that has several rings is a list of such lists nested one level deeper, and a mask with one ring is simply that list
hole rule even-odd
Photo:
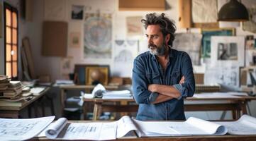
[{"label": "long wooden workbench directly behind the man, visible on both sides", "polygon": [[[184,100],[185,111],[232,111],[234,120],[242,114],[247,114],[246,104],[256,97],[237,97],[237,98],[195,98],[189,97]],[[216,103],[218,101],[218,103]],[[138,104],[132,105],[106,105],[106,102],[135,102],[133,99],[85,99],[84,102],[94,102],[93,120],[98,120],[101,112],[137,112]],[[187,104],[187,102],[194,102]],[[208,103],[207,103],[208,102]],[[87,106],[84,105],[84,115],[87,114]]]}]

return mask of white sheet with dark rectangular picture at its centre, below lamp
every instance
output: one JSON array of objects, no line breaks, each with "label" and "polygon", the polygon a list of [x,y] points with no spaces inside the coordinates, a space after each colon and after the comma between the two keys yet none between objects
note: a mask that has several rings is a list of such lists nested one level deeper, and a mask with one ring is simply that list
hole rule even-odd
[{"label": "white sheet with dark rectangular picture at its centre, below lamp", "polygon": [[225,66],[225,64],[245,65],[245,37],[211,37],[211,65]]}]

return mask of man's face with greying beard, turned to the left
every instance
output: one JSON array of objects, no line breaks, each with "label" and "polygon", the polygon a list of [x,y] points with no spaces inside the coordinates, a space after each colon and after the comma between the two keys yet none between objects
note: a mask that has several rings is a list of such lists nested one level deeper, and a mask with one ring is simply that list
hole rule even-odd
[{"label": "man's face with greying beard, turned to the left", "polygon": [[157,56],[162,56],[167,50],[168,37],[164,37],[159,25],[148,25],[146,30],[148,37],[148,49],[150,53]]}]

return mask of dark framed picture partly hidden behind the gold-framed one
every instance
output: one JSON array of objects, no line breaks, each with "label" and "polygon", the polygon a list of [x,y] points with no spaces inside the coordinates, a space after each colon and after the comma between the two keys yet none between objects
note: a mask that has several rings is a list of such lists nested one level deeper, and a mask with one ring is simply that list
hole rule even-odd
[{"label": "dark framed picture partly hidden behind the gold-framed one", "polygon": [[75,64],[74,65],[74,82],[77,85],[86,85],[86,69],[87,67],[96,67],[98,65],[90,65],[90,64]]}]

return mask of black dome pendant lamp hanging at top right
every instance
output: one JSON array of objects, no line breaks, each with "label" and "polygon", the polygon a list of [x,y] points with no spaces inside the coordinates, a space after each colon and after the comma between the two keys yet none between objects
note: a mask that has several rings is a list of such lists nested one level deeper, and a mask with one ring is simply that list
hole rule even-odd
[{"label": "black dome pendant lamp hanging at top right", "polygon": [[243,22],[249,20],[249,14],[243,4],[237,0],[230,0],[218,12],[218,21]]}]

